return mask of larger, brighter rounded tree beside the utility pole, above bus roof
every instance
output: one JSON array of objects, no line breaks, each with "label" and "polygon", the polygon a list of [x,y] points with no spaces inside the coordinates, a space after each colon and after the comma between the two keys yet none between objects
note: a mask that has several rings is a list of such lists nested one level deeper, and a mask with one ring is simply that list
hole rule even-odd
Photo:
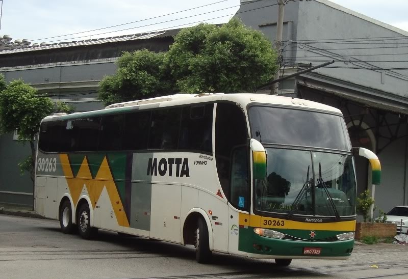
[{"label": "larger, brighter rounded tree beside the utility pole, above bus roof", "polygon": [[182,30],[165,62],[182,92],[254,92],[277,69],[276,52],[259,31],[240,20],[201,23]]}]

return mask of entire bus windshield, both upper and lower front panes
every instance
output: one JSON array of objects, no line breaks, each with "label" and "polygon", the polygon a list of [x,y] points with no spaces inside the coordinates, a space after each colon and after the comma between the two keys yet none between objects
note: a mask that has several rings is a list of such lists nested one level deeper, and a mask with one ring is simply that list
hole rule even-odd
[{"label": "entire bus windshield, both upper and lower front panes", "polygon": [[337,218],[355,215],[352,157],[333,153],[351,148],[341,116],[253,106],[249,121],[252,137],[267,153],[267,175],[256,181],[255,210]]}]

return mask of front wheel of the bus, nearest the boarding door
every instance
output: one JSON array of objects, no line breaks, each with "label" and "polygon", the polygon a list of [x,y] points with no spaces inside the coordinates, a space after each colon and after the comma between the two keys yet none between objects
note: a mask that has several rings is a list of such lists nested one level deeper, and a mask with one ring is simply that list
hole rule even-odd
[{"label": "front wheel of the bus, nearest the boarding door", "polygon": [[195,231],[195,259],[199,263],[208,263],[211,259],[210,241],[206,221],[201,217],[198,219]]}]

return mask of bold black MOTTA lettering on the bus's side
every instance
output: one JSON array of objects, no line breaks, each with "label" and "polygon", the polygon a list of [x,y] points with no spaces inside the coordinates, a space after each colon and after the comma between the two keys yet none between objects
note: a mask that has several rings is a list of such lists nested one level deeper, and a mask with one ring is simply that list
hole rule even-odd
[{"label": "bold black MOTTA lettering on the bus's side", "polygon": [[157,158],[149,158],[147,163],[147,175],[190,177],[187,158],[161,158],[159,163]]}]

